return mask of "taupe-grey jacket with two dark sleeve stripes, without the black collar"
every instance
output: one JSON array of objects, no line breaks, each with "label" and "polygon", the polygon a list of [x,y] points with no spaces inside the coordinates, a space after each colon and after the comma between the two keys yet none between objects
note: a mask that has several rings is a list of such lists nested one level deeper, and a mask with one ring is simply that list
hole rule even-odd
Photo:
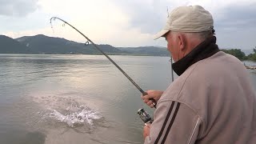
[{"label": "taupe-grey jacket with two dark sleeve stripes, without the black collar", "polygon": [[256,95],[245,66],[219,51],[162,94],[145,143],[256,143]]}]

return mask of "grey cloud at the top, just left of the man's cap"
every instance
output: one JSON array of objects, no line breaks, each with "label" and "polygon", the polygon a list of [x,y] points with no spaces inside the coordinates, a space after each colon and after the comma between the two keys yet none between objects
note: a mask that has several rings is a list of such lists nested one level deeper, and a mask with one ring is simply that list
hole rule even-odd
[{"label": "grey cloud at the top, just left of the man's cap", "polygon": [[162,29],[168,15],[167,7],[171,10],[178,6],[178,0],[114,0],[114,3],[129,17],[129,26],[136,27],[145,34],[155,34]]}]

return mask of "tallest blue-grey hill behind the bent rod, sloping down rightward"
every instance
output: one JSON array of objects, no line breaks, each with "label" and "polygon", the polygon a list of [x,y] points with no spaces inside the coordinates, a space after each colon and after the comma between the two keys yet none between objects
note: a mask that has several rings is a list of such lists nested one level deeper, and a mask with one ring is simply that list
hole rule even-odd
[{"label": "tallest blue-grey hill behind the bent rod, sloping down rightward", "polygon": [[[91,44],[85,46],[66,40],[64,38],[53,38],[46,35],[26,36],[16,38],[18,42],[30,47],[34,54],[100,54]],[[122,51],[110,45],[98,45],[102,51],[108,54],[121,54]]]}]

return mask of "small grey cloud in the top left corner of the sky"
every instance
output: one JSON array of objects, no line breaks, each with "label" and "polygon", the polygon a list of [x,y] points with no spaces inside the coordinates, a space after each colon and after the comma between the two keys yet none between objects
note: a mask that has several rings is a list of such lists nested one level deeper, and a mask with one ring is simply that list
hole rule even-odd
[{"label": "small grey cloud in the top left corner of the sky", "polygon": [[23,17],[37,10],[38,0],[1,0],[0,15]]}]

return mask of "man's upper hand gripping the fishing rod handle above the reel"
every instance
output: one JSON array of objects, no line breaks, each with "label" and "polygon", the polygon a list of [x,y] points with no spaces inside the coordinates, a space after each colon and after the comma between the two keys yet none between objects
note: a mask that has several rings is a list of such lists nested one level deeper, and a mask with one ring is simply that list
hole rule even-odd
[{"label": "man's upper hand gripping the fishing rod handle above the reel", "polygon": [[161,97],[163,91],[159,90],[147,90],[147,95],[142,95],[142,100],[145,102],[148,106],[151,108],[154,107],[153,102],[150,100],[150,98],[153,98],[155,102],[158,102],[159,98]]}]

